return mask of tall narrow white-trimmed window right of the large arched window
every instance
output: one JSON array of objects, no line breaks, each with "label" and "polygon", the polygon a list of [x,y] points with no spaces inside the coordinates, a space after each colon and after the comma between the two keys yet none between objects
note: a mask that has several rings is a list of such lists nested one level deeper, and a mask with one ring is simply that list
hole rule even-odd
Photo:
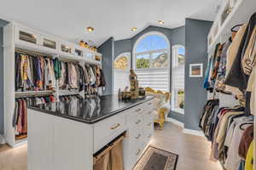
[{"label": "tall narrow white-trimmed window right of the large arched window", "polygon": [[184,113],[185,48],[172,47],[172,111]]}]

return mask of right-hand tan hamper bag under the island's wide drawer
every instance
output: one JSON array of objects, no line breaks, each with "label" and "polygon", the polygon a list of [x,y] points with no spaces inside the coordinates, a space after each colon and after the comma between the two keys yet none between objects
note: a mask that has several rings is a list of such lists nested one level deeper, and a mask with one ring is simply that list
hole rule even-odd
[{"label": "right-hand tan hamper bag under the island's wide drawer", "polygon": [[111,170],[123,170],[123,143],[116,144],[112,150],[110,150],[110,167]]}]

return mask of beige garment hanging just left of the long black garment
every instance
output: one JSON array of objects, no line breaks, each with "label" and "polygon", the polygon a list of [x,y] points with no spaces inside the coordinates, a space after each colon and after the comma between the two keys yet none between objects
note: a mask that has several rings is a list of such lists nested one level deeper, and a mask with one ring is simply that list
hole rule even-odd
[{"label": "beige garment hanging just left of the long black garment", "polygon": [[[247,29],[247,24],[244,24],[240,27],[239,31],[236,33],[236,37],[233,39],[233,42],[230,44],[230,48],[227,50],[227,64],[226,64],[226,77],[230,73],[230,69],[233,65],[234,59],[236,59],[236,54],[238,52],[242,37]],[[241,91],[238,88],[231,87],[229,85],[225,86],[225,90],[232,92],[234,95],[241,95]]]}]

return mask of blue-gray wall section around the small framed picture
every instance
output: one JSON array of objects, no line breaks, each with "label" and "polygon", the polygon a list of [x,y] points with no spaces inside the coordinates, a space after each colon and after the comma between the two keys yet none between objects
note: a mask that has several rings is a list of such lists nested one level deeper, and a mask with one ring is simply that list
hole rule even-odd
[{"label": "blue-gray wall section around the small framed picture", "polygon": [[203,63],[203,72],[207,67],[207,35],[212,22],[186,19],[186,61],[185,61],[185,117],[184,127],[200,130],[203,105],[207,101],[207,92],[202,88],[203,77],[189,77],[189,65]]}]

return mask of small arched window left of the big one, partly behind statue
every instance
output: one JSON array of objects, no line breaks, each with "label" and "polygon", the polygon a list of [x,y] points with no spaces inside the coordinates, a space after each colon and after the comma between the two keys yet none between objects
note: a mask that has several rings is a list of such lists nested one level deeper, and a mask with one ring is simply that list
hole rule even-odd
[{"label": "small arched window left of the big one, partly behind statue", "polygon": [[130,86],[129,75],[131,69],[131,53],[119,54],[113,61],[113,93],[117,94],[119,88],[123,91]]}]

